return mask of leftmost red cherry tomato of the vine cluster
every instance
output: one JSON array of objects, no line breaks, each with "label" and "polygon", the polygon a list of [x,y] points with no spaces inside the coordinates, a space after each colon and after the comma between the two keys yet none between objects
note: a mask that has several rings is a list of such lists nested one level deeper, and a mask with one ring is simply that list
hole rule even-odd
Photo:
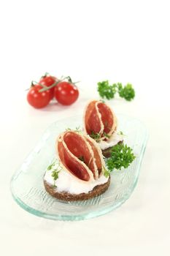
[{"label": "leftmost red cherry tomato of the vine cluster", "polygon": [[28,103],[34,108],[44,108],[50,102],[50,90],[39,92],[42,86],[33,86],[27,94]]}]

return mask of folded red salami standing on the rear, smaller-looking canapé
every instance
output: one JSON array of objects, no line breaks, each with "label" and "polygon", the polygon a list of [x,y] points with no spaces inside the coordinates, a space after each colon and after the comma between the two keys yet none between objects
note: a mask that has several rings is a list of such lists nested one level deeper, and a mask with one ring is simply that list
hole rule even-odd
[{"label": "folded red salami standing on the rear, smaller-looking canap\u00e9", "polygon": [[85,109],[84,127],[88,135],[97,134],[101,140],[108,140],[115,132],[117,120],[115,114],[101,101],[92,101]]}]

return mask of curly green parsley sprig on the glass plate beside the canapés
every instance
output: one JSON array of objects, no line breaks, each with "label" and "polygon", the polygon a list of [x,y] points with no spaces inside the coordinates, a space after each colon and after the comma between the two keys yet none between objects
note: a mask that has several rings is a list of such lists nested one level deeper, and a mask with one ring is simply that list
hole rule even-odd
[{"label": "curly green parsley sprig on the glass plate beside the canap\u00e9s", "polygon": [[135,158],[132,148],[126,144],[117,144],[112,147],[111,157],[107,159],[107,168],[109,171],[120,170],[121,167],[127,168]]}]

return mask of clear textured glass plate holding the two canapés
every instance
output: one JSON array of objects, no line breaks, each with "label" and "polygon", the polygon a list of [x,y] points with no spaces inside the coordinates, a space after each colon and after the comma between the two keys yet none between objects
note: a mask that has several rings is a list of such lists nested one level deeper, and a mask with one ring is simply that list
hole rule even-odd
[{"label": "clear textured glass plate holding the two canap\u00e9s", "polygon": [[11,191],[15,201],[31,214],[59,220],[98,217],[121,206],[136,186],[148,135],[141,121],[123,115],[117,115],[117,118],[118,129],[125,134],[125,143],[134,148],[136,159],[127,169],[112,171],[107,192],[90,200],[64,202],[45,191],[43,176],[55,158],[55,139],[68,127],[82,127],[82,116],[74,116],[53,123],[12,176]]}]

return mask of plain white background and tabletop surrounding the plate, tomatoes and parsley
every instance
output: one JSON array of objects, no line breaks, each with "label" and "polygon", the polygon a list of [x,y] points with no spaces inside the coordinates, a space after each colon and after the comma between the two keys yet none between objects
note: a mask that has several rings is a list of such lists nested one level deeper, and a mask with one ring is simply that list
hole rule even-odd
[{"label": "plain white background and tabletop surrounding the plate, tomatoes and parsley", "polygon": [[[1,1],[0,255],[170,254],[169,1]],[[81,80],[70,107],[35,110],[31,80],[45,72]],[[20,208],[9,180],[53,121],[82,113],[96,83],[132,83],[133,102],[115,112],[140,118],[150,140],[126,203],[81,222],[41,219]]]}]

